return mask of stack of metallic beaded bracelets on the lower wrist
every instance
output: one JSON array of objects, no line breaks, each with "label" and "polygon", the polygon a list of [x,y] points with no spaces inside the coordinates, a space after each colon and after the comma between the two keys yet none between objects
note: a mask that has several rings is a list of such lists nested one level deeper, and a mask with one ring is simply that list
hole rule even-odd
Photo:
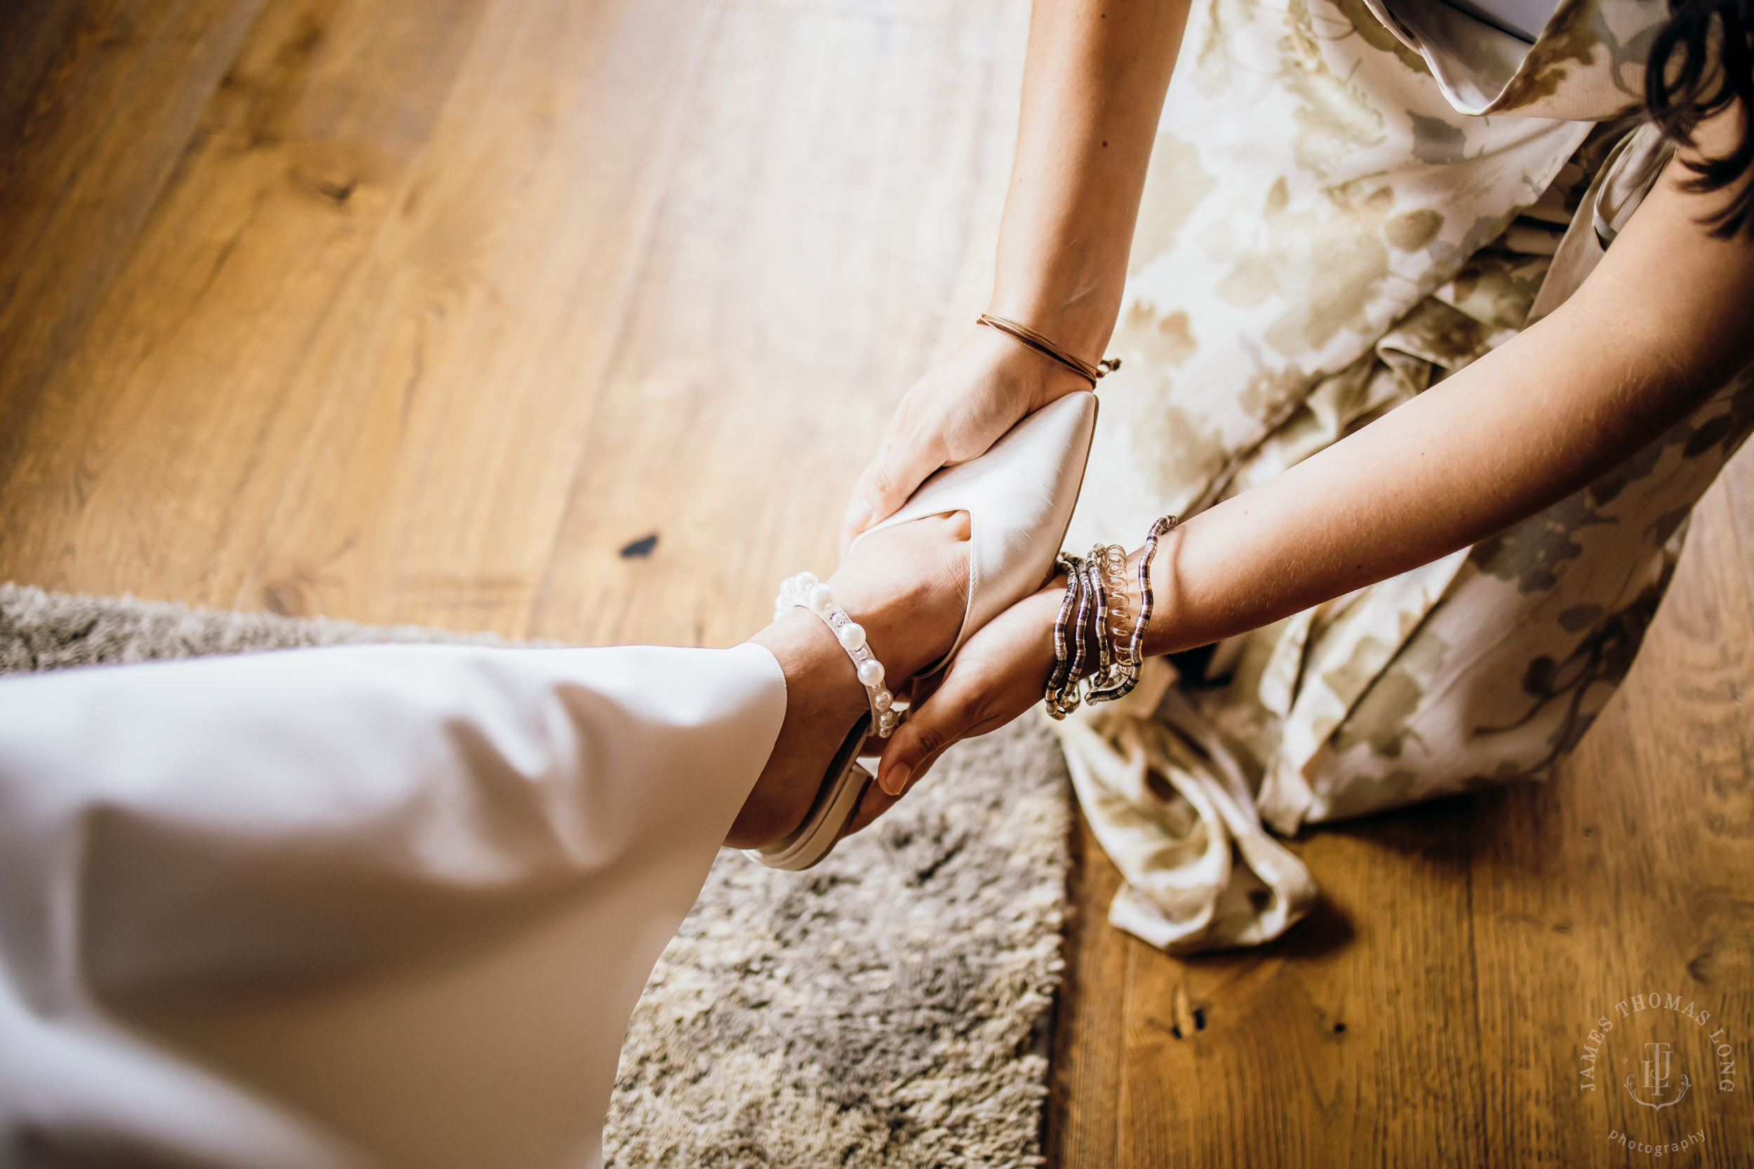
[{"label": "stack of metallic beaded bracelets on the lower wrist", "polygon": [[1124,626],[1126,550],[1110,543],[1096,545],[1089,557],[1059,554],[1056,563],[1066,573],[1066,596],[1054,620],[1054,671],[1042,694],[1052,719],[1079,708],[1080,684],[1089,684],[1082,698],[1089,703],[1112,703],[1138,685],[1152,608],[1151,561],[1158,556],[1158,540],[1175,524],[1173,515],[1165,515],[1145,535],[1138,559],[1138,615],[1130,634]]}]

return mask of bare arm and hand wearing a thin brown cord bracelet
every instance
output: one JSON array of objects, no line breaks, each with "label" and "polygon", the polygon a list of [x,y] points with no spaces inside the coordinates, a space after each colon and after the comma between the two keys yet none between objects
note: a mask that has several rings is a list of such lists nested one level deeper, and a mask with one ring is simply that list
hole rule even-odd
[{"label": "bare arm and hand wearing a thin brown cord bracelet", "polygon": [[[1189,0],[1037,0],[1017,154],[989,310],[1096,361],[1126,256]],[[1017,419],[1086,389],[1070,370],[988,328],[902,400],[847,505],[842,549],[931,471],[968,461]]]}]

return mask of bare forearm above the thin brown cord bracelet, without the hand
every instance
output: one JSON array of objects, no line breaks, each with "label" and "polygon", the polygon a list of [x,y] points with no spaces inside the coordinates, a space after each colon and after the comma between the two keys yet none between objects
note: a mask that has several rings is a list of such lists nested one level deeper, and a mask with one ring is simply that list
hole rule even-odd
[{"label": "bare forearm above the thin brown cord bracelet, without the hand", "polygon": [[1187,0],[1037,0],[991,310],[1094,361],[1114,331]]}]

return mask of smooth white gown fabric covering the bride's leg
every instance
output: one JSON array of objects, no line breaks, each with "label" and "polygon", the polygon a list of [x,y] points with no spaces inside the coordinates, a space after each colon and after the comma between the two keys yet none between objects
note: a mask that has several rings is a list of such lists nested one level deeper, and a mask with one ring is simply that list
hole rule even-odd
[{"label": "smooth white gown fabric covering the bride's leg", "polygon": [[749,645],[0,680],[0,1164],[598,1164],[784,712]]}]

